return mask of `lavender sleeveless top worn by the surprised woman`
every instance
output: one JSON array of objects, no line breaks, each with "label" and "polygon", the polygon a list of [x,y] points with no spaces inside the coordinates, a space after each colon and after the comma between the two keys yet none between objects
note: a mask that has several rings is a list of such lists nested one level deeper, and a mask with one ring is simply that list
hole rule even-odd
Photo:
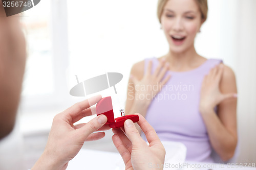
[{"label": "lavender sleeveless top worn by the surprised woman", "polygon": [[[152,73],[159,64],[157,58],[145,59],[145,68],[152,60]],[[211,68],[222,60],[208,59],[199,67],[184,71],[168,71],[171,77],[153,98],[146,120],[163,140],[182,142],[187,147],[186,160],[214,162],[207,130],[199,112],[201,84]],[[166,75],[165,75],[166,76]],[[154,88],[154,87],[152,87]],[[144,134],[143,139],[146,140]]]}]

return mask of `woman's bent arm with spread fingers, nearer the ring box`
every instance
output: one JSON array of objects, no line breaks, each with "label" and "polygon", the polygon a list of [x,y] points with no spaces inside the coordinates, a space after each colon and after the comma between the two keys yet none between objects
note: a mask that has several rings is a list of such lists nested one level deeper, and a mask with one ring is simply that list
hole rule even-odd
[{"label": "woman's bent arm with spread fingers, nearer the ring box", "polygon": [[[150,106],[153,97],[161,90],[162,86],[170,78],[170,75],[168,75],[163,79],[166,71],[168,70],[168,64],[166,64],[164,60],[160,61],[153,74],[151,74],[152,61],[148,62],[145,74],[144,64],[144,61],[141,61],[134,64],[132,67],[127,88],[125,114],[140,113],[145,117],[148,106]],[[136,128],[141,132],[138,125],[136,125]]]}]

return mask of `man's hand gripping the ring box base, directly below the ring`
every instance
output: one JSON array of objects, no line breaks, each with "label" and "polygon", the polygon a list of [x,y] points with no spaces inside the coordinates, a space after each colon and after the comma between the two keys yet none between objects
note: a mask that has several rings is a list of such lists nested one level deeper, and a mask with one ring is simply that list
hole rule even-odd
[{"label": "man's hand gripping the ring box base, directly below the ring", "polygon": [[113,129],[113,142],[123,158],[125,169],[157,169],[150,165],[164,164],[165,149],[153,127],[146,122],[143,116],[138,115],[140,120],[137,123],[150,144],[147,145],[140,137],[130,119],[125,121],[124,129]]}]

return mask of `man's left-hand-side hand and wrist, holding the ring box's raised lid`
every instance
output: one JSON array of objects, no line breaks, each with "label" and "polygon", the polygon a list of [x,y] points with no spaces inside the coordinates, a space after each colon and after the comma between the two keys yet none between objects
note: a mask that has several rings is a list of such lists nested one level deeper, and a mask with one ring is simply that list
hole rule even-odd
[{"label": "man's left-hand-side hand and wrist, holding the ring box's raised lid", "polygon": [[32,170],[66,169],[68,162],[77,155],[84,141],[98,140],[105,136],[104,132],[93,133],[110,129],[108,125],[104,125],[107,120],[105,115],[99,115],[87,124],[74,125],[81,118],[92,115],[94,108],[91,106],[100,99],[100,95],[94,96],[54,117],[46,149]]}]

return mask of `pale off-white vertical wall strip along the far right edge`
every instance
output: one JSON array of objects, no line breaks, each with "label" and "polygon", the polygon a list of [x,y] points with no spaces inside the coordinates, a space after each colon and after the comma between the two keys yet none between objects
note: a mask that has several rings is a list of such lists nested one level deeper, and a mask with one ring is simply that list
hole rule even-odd
[{"label": "pale off-white vertical wall strip along the far right edge", "polygon": [[240,162],[256,162],[256,1],[238,1],[234,46],[238,82]]}]

